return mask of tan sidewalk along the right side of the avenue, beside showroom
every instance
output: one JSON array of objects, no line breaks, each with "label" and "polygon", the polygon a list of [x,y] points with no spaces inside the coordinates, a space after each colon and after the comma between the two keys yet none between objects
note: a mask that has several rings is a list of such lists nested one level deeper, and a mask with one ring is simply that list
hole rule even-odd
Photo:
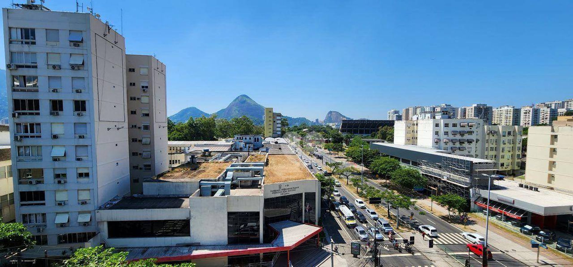
[{"label": "tan sidewalk along the right side of the avenue, beside showroom", "polygon": [[[435,216],[448,216],[448,210],[435,203],[431,205],[429,199],[417,200],[417,204]],[[433,208],[432,211],[430,211],[430,206]],[[485,236],[485,218],[472,213],[469,214],[469,217],[473,221],[476,221],[476,224],[465,226],[465,228],[461,224],[452,223],[452,225],[460,228],[462,232],[477,232]],[[489,223],[488,243],[529,266],[552,265],[573,267],[573,258],[543,248],[541,248],[539,256],[540,263],[537,263],[537,249],[531,248],[529,238],[505,229],[491,221]]]}]

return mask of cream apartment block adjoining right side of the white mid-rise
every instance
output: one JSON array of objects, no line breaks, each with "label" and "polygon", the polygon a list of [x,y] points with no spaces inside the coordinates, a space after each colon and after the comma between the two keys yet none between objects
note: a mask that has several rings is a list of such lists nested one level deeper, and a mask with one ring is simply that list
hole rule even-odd
[{"label": "cream apartment block adjoining right side of the white mid-rise", "polygon": [[520,169],[522,126],[485,125],[484,159],[498,162],[500,174],[513,174]]}]

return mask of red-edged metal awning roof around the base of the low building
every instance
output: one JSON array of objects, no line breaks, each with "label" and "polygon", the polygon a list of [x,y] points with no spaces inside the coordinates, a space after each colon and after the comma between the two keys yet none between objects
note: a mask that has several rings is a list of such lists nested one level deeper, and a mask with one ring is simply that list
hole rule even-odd
[{"label": "red-edged metal awning roof around the base of the low building", "polygon": [[156,258],[158,262],[188,261],[198,258],[227,257],[265,252],[286,251],[320,233],[321,227],[300,222],[281,221],[269,224],[278,233],[270,243],[210,246],[154,246],[118,248],[128,252],[127,260]]}]

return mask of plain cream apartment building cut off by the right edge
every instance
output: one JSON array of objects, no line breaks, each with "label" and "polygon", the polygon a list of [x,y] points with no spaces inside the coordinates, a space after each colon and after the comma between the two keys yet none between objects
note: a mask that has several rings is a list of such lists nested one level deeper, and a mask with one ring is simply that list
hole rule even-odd
[{"label": "plain cream apartment building cut off by the right edge", "polygon": [[525,181],[573,192],[573,116],[529,127]]}]

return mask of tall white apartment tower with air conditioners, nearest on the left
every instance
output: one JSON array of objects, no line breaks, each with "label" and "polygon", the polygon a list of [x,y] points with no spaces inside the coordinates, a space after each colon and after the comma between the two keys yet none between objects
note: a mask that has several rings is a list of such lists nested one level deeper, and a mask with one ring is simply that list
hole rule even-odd
[{"label": "tall white apartment tower with air conditioners, nearest on the left", "polygon": [[129,194],[124,37],[87,13],[2,11],[16,220],[69,251]]}]

